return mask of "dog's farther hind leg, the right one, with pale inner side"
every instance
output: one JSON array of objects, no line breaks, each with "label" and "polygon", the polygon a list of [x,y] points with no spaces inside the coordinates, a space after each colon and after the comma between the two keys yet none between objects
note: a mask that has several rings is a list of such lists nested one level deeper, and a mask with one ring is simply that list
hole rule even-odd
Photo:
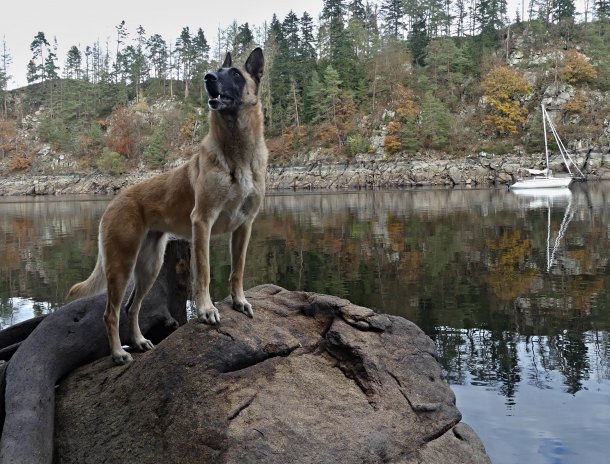
[{"label": "dog's farther hind leg, the right one, with pale inner side", "polygon": [[148,232],[138,252],[138,259],[136,260],[133,272],[133,292],[129,297],[126,308],[129,315],[131,343],[133,348],[138,351],[148,351],[154,347],[152,342],[142,335],[138,316],[142,300],[155,283],[155,279],[163,265],[166,244],[167,234],[163,232]]}]

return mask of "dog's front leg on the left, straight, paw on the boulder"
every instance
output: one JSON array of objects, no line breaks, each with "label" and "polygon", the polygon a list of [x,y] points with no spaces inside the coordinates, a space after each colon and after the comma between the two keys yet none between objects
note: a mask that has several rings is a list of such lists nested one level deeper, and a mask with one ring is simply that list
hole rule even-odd
[{"label": "dog's front leg on the left, straight, paw on the boulder", "polygon": [[193,225],[193,300],[197,306],[197,318],[206,324],[220,322],[218,309],[210,298],[210,235],[213,220],[202,218],[196,212],[191,214]]}]

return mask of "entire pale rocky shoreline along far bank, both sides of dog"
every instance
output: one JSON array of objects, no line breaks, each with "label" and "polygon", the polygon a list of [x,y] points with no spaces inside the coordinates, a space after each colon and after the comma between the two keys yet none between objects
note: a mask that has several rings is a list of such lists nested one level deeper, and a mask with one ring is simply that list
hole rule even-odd
[{"label": "entire pale rocky shoreline along far bank, both sides of dog", "polygon": [[[580,150],[574,161],[590,179],[610,179],[610,150]],[[415,186],[482,187],[511,184],[524,175],[524,168],[544,167],[542,154],[494,155],[478,153],[465,158],[426,156],[386,157],[358,155],[349,160],[314,159],[299,165],[271,164],[267,189],[346,190]],[[555,173],[565,171],[559,155],[551,157]],[[18,175],[0,182],[0,195],[115,194],[122,188],[158,172],[139,172],[113,177],[88,175]]]}]

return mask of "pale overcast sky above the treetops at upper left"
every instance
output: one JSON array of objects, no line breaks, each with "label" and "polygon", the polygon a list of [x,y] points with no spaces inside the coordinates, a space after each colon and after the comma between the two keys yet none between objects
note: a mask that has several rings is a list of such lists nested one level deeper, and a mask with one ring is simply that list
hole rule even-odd
[{"label": "pale overcast sky above the treetops at upper left", "polygon": [[9,66],[12,80],[9,89],[27,84],[25,75],[32,57],[30,44],[42,31],[47,40],[58,43],[58,64],[63,69],[66,53],[73,45],[93,45],[98,39],[105,44],[110,38],[116,46],[115,27],[125,20],[130,37],[142,25],[146,35],[160,34],[166,41],[175,42],[183,27],[191,34],[202,28],[210,45],[215,42],[218,28],[225,29],[233,20],[260,26],[270,22],[273,13],[282,20],[293,10],[301,17],[307,11],[314,20],[322,11],[322,0],[2,0],[0,14],[0,46],[2,38],[13,59]]}]

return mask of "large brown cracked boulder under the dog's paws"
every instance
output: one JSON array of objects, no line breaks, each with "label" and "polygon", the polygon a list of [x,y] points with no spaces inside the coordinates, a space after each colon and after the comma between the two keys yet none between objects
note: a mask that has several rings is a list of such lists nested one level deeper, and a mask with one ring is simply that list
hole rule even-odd
[{"label": "large brown cracked boulder under the dog's paws", "polygon": [[55,462],[490,462],[432,340],[339,298],[265,285],[127,366],[57,391]]}]

